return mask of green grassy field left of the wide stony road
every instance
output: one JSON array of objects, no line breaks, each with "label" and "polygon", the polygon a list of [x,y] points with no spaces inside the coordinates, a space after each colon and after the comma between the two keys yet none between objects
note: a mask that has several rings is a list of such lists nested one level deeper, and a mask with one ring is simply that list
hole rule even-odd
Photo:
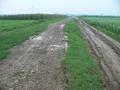
[{"label": "green grassy field left of the wide stony road", "polygon": [[[60,19],[58,19],[60,20]],[[20,44],[30,36],[38,34],[45,30],[48,24],[58,20],[12,20],[4,21],[0,25],[0,60],[3,60],[8,54],[9,49]],[[2,22],[2,21],[1,21]],[[8,23],[7,23],[8,22]]]}]

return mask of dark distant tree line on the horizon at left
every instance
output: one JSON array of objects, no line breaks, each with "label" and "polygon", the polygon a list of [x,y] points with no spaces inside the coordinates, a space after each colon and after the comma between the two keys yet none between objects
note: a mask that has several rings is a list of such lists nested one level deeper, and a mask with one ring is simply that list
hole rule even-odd
[{"label": "dark distant tree line on the horizon at left", "polygon": [[58,14],[20,14],[20,15],[0,15],[0,20],[43,20],[64,18],[65,15]]}]

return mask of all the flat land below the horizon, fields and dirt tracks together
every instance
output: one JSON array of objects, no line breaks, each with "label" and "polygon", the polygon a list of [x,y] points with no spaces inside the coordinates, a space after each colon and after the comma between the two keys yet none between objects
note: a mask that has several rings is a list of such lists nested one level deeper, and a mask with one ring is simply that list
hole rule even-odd
[{"label": "all the flat land below the horizon, fields and dirt tracks together", "polygon": [[0,20],[1,90],[120,89],[119,17],[13,17]]}]

